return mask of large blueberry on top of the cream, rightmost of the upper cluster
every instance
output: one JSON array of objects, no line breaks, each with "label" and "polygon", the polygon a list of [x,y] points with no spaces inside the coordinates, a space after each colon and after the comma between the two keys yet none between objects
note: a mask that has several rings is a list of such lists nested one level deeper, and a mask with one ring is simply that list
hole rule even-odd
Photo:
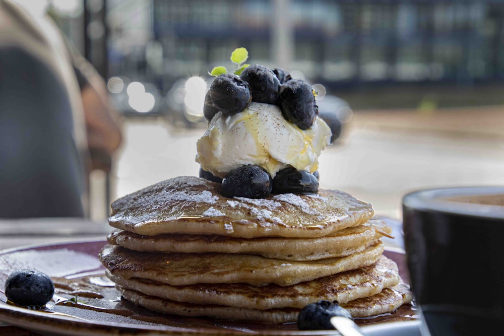
[{"label": "large blueberry on top of the cream, rightmost of the upper cluster", "polygon": [[301,79],[292,79],[280,86],[282,115],[301,129],[310,128],[319,113],[311,90],[311,85]]}]

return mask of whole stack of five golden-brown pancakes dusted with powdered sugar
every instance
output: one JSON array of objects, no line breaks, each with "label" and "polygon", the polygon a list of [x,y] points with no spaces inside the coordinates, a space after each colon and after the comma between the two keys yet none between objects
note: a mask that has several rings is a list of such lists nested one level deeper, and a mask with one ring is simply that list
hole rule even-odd
[{"label": "whole stack of five golden-brown pancakes dusted with powdered sugar", "polygon": [[226,198],[182,176],[115,200],[100,252],[122,297],[149,310],[228,320],[296,321],[320,300],[354,318],[411,301],[383,255],[391,228],[347,193]]}]

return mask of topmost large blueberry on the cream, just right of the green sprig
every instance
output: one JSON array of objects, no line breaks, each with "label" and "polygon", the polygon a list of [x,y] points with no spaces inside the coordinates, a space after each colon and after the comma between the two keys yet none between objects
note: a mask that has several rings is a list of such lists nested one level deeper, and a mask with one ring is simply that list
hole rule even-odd
[{"label": "topmost large blueberry on the cream, just right of the green sprig", "polygon": [[276,104],[279,97],[280,81],[271,69],[261,64],[247,66],[240,75],[248,83],[252,101]]}]

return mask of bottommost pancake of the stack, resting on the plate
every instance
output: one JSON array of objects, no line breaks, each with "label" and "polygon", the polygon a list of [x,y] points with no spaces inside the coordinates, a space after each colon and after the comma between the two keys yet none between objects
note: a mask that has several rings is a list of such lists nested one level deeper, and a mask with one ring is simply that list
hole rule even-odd
[{"label": "bottommost pancake of the stack, resting on the plate", "polygon": [[[201,317],[206,316],[215,319],[244,320],[257,322],[296,322],[301,309],[299,308],[273,308],[273,309],[249,309],[223,305],[191,304],[162,299],[157,296],[145,295],[141,292],[116,286],[122,297],[149,310],[179,316]],[[399,284],[384,289],[379,294],[350,301],[341,306],[348,309],[352,317],[368,317],[379,314],[394,312],[397,308],[411,301],[411,293],[408,286]]]}]

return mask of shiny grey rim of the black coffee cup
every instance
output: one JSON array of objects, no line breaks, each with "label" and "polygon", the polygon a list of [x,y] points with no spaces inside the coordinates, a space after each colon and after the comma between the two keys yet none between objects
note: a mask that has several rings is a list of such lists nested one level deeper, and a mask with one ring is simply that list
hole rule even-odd
[{"label": "shiny grey rim of the black coffee cup", "polygon": [[403,207],[463,216],[504,219],[504,206],[464,203],[443,198],[454,196],[504,195],[504,186],[433,187],[410,191]]}]

